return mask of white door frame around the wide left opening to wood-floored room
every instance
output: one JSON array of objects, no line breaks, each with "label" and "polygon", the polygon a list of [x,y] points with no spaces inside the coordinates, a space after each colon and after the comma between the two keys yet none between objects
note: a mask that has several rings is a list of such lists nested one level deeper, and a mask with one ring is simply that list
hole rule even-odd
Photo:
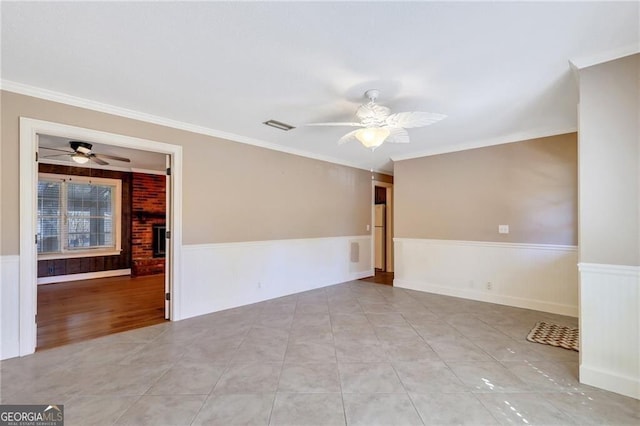
[{"label": "white door frame around the wide left opening to wood-floored room", "polygon": [[121,146],[171,156],[172,204],[170,271],[171,321],[180,319],[182,267],[182,146],[147,139],[85,129],[66,124],[20,117],[20,356],[35,352],[37,343],[37,183],[38,135],[47,134],[69,139],[88,140],[105,145]]}]

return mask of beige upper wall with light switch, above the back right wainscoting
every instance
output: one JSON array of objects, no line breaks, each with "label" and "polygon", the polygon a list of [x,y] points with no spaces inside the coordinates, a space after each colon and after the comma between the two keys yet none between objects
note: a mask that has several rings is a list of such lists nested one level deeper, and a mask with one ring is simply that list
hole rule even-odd
[{"label": "beige upper wall with light switch, above the back right wainscoting", "polygon": [[397,162],[395,236],[575,245],[576,157],[571,133]]}]

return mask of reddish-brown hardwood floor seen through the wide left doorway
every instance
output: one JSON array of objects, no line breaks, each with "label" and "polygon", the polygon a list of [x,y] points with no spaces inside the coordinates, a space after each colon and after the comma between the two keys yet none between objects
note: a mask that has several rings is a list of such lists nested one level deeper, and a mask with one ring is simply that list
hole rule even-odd
[{"label": "reddish-brown hardwood floor seen through the wide left doorway", "polygon": [[38,286],[37,350],[164,321],[164,275]]}]

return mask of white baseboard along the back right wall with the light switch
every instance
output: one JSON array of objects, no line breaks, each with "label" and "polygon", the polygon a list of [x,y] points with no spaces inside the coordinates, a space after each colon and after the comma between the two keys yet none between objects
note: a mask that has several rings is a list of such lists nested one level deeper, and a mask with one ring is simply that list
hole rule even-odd
[{"label": "white baseboard along the back right wall with the light switch", "polygon": [[462,299],[479,300],[481,302],[496,303],[498,305],[515,306],[517,308],[533,309],[536,311],[553,312],[559,315],[578,317],[578,307],[562,303],[534,300],[524,297],[506,296],[502,294],[490,294],[480,291],[445,287],[418,281],[394,279],[394,287],[409,290],[426,291],[427,293],[442,294],[445,296],[460,297]]}]

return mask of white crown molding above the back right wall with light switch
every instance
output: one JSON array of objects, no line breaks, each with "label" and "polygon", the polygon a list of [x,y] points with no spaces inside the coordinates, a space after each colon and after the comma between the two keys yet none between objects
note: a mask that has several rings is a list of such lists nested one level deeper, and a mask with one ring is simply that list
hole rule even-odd
[{"label": "white crown molding above the back right wall with light switch", "polygon": [[429,157],[431,155],[448,154],[451,152],[466,151],[469,149],[485,148],[485,147],[494,146],[494,145],[504,145],[507,143],[523,142],[530,139],[564,135],[567,133],[575,133],[577,131],[578,131],[578,128],[576,126],[569,126],[569,127],[518,132],[518,133],[512,133],[510,135],[498,136],[495,138],[482,139],[482,140],[471,141],[471,142],[460,142],[455,145],[447,145],[447,146],[430,148],[430,149],[416,152],[416,153],[394,155],[391,157],[391,160],[393,161],[411,160],[414,158]]}]

